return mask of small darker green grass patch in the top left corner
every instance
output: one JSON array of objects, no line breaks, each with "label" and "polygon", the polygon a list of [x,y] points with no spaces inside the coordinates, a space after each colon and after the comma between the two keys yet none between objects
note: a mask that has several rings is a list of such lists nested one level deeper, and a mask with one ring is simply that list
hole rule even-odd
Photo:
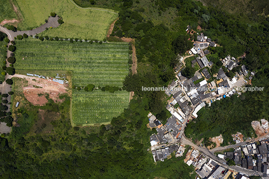
[{"label": "small darker green grass patch in the top left corner", "polygon": [[9,0],[1,0],[0,1],[0,23],[7,20],[13,20],[17,18],[17,15],[15,14],[13,7]]}]

